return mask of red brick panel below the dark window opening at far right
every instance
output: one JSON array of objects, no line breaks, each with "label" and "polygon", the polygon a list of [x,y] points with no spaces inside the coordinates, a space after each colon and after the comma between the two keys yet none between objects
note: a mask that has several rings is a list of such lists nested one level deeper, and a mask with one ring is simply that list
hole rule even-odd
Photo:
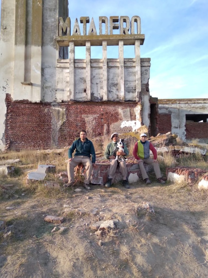
[{"label": "red brick panel below the dark window opening at far right", "polygon": [[208,123],[186,122],[186,139],[208,138]]}]

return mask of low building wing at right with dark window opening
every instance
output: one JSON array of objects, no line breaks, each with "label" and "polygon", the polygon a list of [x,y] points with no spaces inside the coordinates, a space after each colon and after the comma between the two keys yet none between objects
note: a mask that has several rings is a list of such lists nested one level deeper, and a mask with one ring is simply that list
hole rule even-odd
[{"label": "low building wing at right with dark window opening", "polygon": [[183,141],[208,142],[208,98],[158,100],[159,132],[171,131]]}]

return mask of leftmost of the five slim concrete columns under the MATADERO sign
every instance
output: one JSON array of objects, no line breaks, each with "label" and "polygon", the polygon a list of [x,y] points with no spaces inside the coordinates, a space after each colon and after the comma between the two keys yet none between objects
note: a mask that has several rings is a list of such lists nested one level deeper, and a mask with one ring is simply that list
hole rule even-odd
[{"label": "leftmost of the five slim concrete columns under the MATADERO sign", "polygon": [[74,94],[74,43],[69,43],[69,100],[75,100]]}]

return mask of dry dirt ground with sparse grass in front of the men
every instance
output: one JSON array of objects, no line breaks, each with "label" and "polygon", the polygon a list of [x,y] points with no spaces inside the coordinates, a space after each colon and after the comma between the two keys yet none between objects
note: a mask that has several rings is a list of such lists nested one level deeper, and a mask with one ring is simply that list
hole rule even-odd
[{"label": "dry dirt ground with sparse grass in front of the men", "polygon": [[[0,219],[14,225],[1,239],[1,278],[208,277],[207,192],[197,186],[139,182],[62,191],[0,201]],[[46,215],[64,217],[58,227],[66,229],[52,232]],[[110,219],[120,221],[103,236],[90,228]]]}]

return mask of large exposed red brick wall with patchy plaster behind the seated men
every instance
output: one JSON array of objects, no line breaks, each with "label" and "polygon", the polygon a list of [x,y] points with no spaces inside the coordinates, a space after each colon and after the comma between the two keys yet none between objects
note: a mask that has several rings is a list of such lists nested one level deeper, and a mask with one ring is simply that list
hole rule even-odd
[{"label": "large exposed red brick wall with patchy plaster behind the seated men", "polygon": [[[32,103],[13,101],[6,94],[5,142],[7,149],[50,149],[71,145],[84,129],[88,137],[132,131],[121,128],[128,114],[136,121],[136,102]],[[121,113],[125,110],[126,113]]]}]

